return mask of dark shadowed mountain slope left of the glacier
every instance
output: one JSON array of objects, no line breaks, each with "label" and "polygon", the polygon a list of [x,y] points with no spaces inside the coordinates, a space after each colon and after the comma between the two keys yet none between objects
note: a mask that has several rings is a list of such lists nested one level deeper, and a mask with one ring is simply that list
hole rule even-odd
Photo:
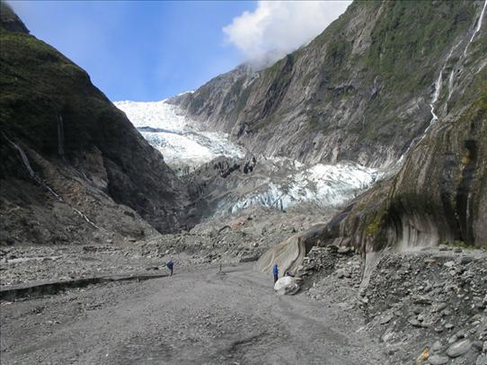
[{"label": "dark shadowed mountain slope left of the glacier", "polygon": [[2,241],[181,227],[181,182],[84,70],[3,3],[0,42]]}]

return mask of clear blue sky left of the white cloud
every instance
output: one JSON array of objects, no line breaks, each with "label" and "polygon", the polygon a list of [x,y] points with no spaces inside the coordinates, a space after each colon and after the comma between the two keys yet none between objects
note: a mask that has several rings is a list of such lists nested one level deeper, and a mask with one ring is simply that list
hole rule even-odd
[{"label": "clear blue sky left of the white cloud", "polygon": [[222,28],[255,2],[10,1],[40,40],[83,67],[111,100],[157,101],[242,60]]}]

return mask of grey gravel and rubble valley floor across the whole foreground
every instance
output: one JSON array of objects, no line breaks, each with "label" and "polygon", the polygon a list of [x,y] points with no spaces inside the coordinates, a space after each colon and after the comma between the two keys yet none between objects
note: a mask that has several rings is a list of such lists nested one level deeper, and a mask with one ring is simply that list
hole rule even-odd
[{"label": "grey gravel and rubble valley floor across the whole foreground", "polygon": [[[487,363],[485,251],[385,252],[365,270],[349,247],[314,246],[301,290],[279,296],[246,263],[267,244],[243,240],[224,254],[198,235],[174,237],[2,248],[2,363]],[[113,275],[124,280],[66,284]],[[46,282],[58,289],[36,292]]]}]

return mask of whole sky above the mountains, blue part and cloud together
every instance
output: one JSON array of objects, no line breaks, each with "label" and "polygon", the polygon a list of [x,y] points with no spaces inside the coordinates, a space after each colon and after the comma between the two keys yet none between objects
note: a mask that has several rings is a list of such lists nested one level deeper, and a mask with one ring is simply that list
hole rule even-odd
[{"label": "whole sky above the mountains, blue part and cloud together", "polygon": [[31,34],[112,101],[159,101],[312,40],[350,1],[20,1]]}]

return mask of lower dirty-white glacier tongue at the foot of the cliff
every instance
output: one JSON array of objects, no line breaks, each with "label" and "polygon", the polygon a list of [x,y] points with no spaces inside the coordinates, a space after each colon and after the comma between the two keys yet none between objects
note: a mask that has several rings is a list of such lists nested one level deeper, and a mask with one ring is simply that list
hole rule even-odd
[{"label": "lower dirty-white glacier tongue at the foot of the cliff", "polygon": [[218,201],[216,216],[252,206],[285,210],[300,202],[341,208],[381,177],[376,169],[351,162],[308,166],[287,157],[261,157],[257,161],[255,177],[247,177],[243,186],[227,191],[225,199]]}]

